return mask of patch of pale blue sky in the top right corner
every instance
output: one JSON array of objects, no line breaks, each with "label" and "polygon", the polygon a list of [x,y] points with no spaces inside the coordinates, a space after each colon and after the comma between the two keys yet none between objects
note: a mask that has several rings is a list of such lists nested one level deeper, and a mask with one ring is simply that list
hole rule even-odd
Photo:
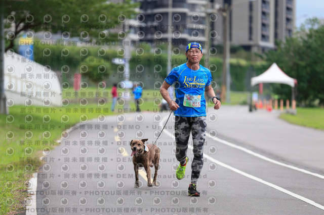
[{"label": "patch of pale blue sky in the top right corner", "polygon": [[312,17],[324,19],[324,0],[296,0],[296,26]]}]

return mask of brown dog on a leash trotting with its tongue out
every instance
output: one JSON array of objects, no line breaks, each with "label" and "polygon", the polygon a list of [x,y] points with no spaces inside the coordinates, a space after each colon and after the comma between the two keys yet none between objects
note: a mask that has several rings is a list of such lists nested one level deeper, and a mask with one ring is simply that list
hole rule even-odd
[{"label": "brown dog on a leash trotting with its tongue out", "polygon": [[[158,162],[160,158],[160,149],[156,145],[147,144],[147,150],[145,150],[145,141],[148,139],[141,139],[141,140],[132,140],[131,141],[131,149],[133,156],[133,164],[134,164],[134,171],[135,171],[135,188],[139,187],[138,181],[138,168],[144,167],[146,171],[147,177],[147,186],[156,186],[156,176],[157,176],[157,169],[158,169]],[[153,167],[155,169],[153,183],[151,183],[151,169]]]}]

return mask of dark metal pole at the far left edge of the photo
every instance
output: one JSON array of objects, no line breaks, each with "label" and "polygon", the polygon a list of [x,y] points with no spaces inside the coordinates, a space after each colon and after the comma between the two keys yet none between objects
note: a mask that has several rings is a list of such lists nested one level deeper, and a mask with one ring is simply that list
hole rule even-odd
[{"label": "dark metal pole at the far left edge of the photo", "polygon": [[5,1],[1,1],[0,13],[0,114],[8,115],[5,95],[5,31],[4,31],[4,13]]}]

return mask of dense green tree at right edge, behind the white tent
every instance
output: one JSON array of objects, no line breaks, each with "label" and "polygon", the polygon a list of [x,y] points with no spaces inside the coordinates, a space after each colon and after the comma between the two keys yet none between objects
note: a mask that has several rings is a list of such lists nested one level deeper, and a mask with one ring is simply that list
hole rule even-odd
[{"label": "dense green tree at right edge, behind the white tent", "polygon": [[[278,42],[277,49],[266,53],[269,64],[273,62],[298,81],[297,102],[307,106],[315,101],[324,104],[324,24],[317,18],[308,19],[293,37]],[[286,98],[291,90],[275,86],[274,91]]]}]

